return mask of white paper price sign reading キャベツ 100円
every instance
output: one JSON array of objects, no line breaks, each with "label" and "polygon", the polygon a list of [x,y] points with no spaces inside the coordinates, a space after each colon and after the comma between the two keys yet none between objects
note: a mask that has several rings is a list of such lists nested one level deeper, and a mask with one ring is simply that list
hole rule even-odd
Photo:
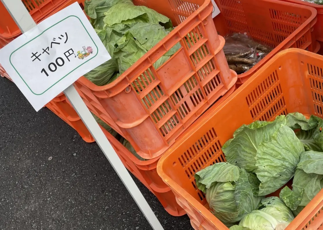
[{"label": "white paper price sign reading \u30ad\u30e3\u30d9\u30c4 100\u5186", "polygon": [[78,3],[0,50],[0,63],[36,111],[110,59]]}]

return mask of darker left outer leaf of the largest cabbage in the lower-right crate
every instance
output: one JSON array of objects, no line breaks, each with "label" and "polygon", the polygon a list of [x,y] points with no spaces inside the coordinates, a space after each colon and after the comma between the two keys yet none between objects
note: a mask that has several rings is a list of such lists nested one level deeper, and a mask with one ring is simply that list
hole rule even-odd
[{"label": "darker left outer leaf of the largest cabbage in the lower-right crate", "polygon": [[242,125],[222,147],[226,160],[247,172],[256,172],[258,146],[270,140],[280,125],[285,123],[285,116],[277,116],[273,122],[255,121],[250,125]]}]

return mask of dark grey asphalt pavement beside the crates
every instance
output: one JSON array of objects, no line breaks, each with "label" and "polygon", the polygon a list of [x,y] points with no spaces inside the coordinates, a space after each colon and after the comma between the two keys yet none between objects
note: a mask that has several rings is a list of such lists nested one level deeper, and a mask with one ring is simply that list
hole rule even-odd
[{"label": "dark grey asphalt pavement beside the crates", "polygon": [[[151,229],[98,145],[2,77],[0,130],[0,229]],[[165,230],[192,229],[135,182]]]}]

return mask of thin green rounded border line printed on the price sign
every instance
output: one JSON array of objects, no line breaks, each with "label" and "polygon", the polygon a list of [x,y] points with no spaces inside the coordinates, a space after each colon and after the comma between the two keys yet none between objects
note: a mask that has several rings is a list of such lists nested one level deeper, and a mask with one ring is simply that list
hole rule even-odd
[{"label": "thin green rounded border line printed on the price sign", "polygon": [[[91,38],[92,42],[94,43],[94,45],[97,47],[97,53],[96,55],[92,56],[90,59],[88,59],[87,61],[83,62],[82,64],[80,64],[78,67],[76,67],[75,69],[73,69],[72,71],[70,71],[67,75],[63,76],[61,79],[59,79],[57,82],[55,82],[52,86],[50,86],[48,89],[46,89],[44,92],[42,92],[41,94],[36,94],[34,93],[31,88],[29,87],[29,85],[26,83],[26,81],[22,78],[22,76],[18,73],[18,71],[16,70],[15,66],[12,64],[11,62],[11,56],[17,51],[19,50],[21,47],[23,47],[24,45],[27,45],[29,42],[35,40],[37,37],[39,37],[40,35],[44,34],[47,30],[49,30],[50,28],[52,28],[53,26],[57,25],[58,23],[61,23],[62,21],[68,19],[69,17],[76,17],[80,23],[82,24],[82,26],[84,27],[85,31],[88,33],[89,37]],[[20,46],[19,48],[17,48],[15,51],[13,51],[11,54],[10,54],[10,57],[9,57],[9,61],[10,61],[10,64],[11,66],[15,69],[15,71],[17,72],[17,74],[19,75],[19,77],[23,80],[23,82],[27,85],[28,89],[35,95],[42,95],[44,94],[47,90],[49,90],[51,87],[53,87],[54,85],[56,85],[58,82],[60,82],[63,78],[65,78],[66,76],[68,76],[70,73],[72,73],[74,70],[76,70],[77,68],[79,68],[80,66],[84,65],[85,63],[87,63],[89,60],[91,60],[92,58],[96,57],[99,53],[99,48],[97,46],[97,44],[95,44],[93,38],[91,37],[91,35],[89,34],[88,30],[85,28],[84,24],[82,23],[81,19],[76,16],[76,15],[70,15],[64,19],[62,19],[61,21],[55,23],[54,25],[50,26],[48,29],[44,30],[41,34],[39,34],[38,36],[36,36],[35,38],[31,39],[30,41],[26,42],[24,45]]]}]

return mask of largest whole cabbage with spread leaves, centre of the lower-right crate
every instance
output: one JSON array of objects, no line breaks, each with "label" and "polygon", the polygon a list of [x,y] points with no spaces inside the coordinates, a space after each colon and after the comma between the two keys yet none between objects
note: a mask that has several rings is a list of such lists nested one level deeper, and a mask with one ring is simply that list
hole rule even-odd
[{"label": "largest whole cabbage with spread leaves, centre of the lower-right crate", "polygon": [[243,125],[222,148],[229,163],[257,175],[261,182],[258,195],[268,195],[285,185],[305,151],[287,121],[282,115],[273,122]]}]

